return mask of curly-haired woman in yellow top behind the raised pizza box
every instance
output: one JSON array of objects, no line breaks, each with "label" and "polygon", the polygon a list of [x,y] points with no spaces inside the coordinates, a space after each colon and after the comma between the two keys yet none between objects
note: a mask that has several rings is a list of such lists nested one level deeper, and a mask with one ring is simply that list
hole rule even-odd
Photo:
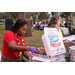
[{"label": "curly-haired woman in yellow top behind the raised pizza box", "polygon": [[63,38],[62,32],[60,30],[60,25],[61,25],[61,17],[59,15],[53,15],[50,18],[50,21],[48,23],[48,27],[57,28],[60,33],[61,38]]}]

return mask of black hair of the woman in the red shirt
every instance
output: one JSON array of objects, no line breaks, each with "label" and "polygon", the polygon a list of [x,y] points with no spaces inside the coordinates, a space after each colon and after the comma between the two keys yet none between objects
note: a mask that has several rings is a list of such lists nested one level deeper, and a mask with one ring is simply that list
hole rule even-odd
[{"label": "black hair of the woman in the red shirt", "polygon": [[27,25],[27,22],[24,19],[18,19],[16,21],[16,23],[14,24],[14,26],[10,29],[11,31],[16,31],[18,30],[20,27]]}]

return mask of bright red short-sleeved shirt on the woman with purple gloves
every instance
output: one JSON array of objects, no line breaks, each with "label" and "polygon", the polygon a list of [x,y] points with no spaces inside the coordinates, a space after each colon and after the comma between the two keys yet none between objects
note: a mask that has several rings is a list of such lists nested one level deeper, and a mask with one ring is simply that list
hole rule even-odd
[{"label": "bright red short-sleeved shirt on the woman with purple gloves", "polygon": [[[22,36],[16,37],[12,31],[8,31],[5,33],[4,40],[3,40],[3,51],[2,51],[2,54],[4,56],[6,56],[8,58],[12,58],[12,59],[19,59],[22,57],[22,54],[21,54],[21,57],[19,57],[19,52],[14,52],[14,51],[10,50],[9,47],[7,46],[7,43],[10,41],[15,41],[16,45],[18,45],[17,38],[19,39],[20,46],[26,46],[25,40]],[[22,41],[21,39],[23,39],[24,41]],[[22,43],[24,43],[25,45],[22,45]]]}]

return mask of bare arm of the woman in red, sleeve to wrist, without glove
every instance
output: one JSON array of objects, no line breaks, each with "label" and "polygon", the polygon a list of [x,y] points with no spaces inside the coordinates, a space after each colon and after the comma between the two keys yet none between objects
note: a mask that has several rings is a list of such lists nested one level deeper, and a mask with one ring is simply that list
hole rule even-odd
[{"label": "bare arm of the woman in red, sleeve to wrist, without glove", "polygon": [[10,50],[14,51],[14,52],[23,52],[23,51],[27,51],[28,47],[24,47],[24,46],[19,46],[16,45],[15,41],[10,41],[7,43],[8,47]]}]

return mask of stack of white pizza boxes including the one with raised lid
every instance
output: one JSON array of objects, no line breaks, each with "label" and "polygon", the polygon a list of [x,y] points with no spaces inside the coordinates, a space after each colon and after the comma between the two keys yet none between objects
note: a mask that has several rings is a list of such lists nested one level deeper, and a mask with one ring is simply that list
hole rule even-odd
[{"label": "stack of white pizza boxes including the one with raised lid", "polygon": [[30,62],[65,62],[66,49],[56,28],[44,28],[42,41],[47,56],[29,52]]}]

